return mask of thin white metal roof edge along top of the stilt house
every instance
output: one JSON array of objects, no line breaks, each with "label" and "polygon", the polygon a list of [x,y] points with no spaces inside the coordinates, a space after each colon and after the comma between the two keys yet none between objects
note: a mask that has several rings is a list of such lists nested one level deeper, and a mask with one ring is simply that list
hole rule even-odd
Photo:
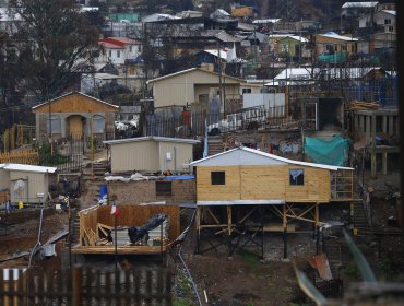
[{"label": "thin white metal roof edge along top of the stilt house", "polygon": [[[230,153],[233,153],[235,151],[246,151],[246,152],[253,153],[253,154],[257,154],[257,155],[260,155],[260,156],[264,156],[264,157],[269,158],[269,162],[270,162],[270,160],[272,160],[272,161],[275,160],[275,161],[284,162],[284,163],[287,163],[287,164],[300,165],[300,166],[307,166],[307,167],[313,167],[313,168],[322,168],[322,169],[329,169],[329,170],[353,169],[353,168],[349,168],[349,167],[330,166],[330,165],[324,165],[324,164],[316,164],[316,163],[308,163],[308,162],[300,162],[300,161],[289,160],[289,158],[281,157],[281,156],[274,155],[274,154],[265,153],[265,152],[262,152],[262,151],[259,151],[259,150],[246,148],[246,146],[235,148],[235,149],[231,149],[231,150],[226,151],[226,152],[222,152],[222,153],[218,153],[218,154],[215,154],[215,155],[212,155],[212,156],[207,156],[205,158],[194,161],[194,162],[190,163],[190,165],[191,166],[198,166],[198,164],[201,164],[201,163],[203,163],[205,161],[209,161],[209,160],[213,160],[217,156],[225,155],[225,154],[230,155]],[[251,158],[251,162],[253,162],[252,161],[253,157],[250,157],[250,158]]]}]

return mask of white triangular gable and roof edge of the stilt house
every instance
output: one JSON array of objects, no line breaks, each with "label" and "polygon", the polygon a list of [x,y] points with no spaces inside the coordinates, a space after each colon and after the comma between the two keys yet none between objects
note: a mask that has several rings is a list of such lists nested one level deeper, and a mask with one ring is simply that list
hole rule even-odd
[{"label": "white triangular gable and roof edge of the stilt house", "polygon": [[243,166],[243,165],[262,166],[262,165],[282,165],[282,164],[290,164],[329,170],[353,169],[348,167],[337,167],[323,164],[294,161],[246,146],[235,148],[229,151],[225,151],[216,155],[207,156],[205,158],[190,163],[191,166]]}]

